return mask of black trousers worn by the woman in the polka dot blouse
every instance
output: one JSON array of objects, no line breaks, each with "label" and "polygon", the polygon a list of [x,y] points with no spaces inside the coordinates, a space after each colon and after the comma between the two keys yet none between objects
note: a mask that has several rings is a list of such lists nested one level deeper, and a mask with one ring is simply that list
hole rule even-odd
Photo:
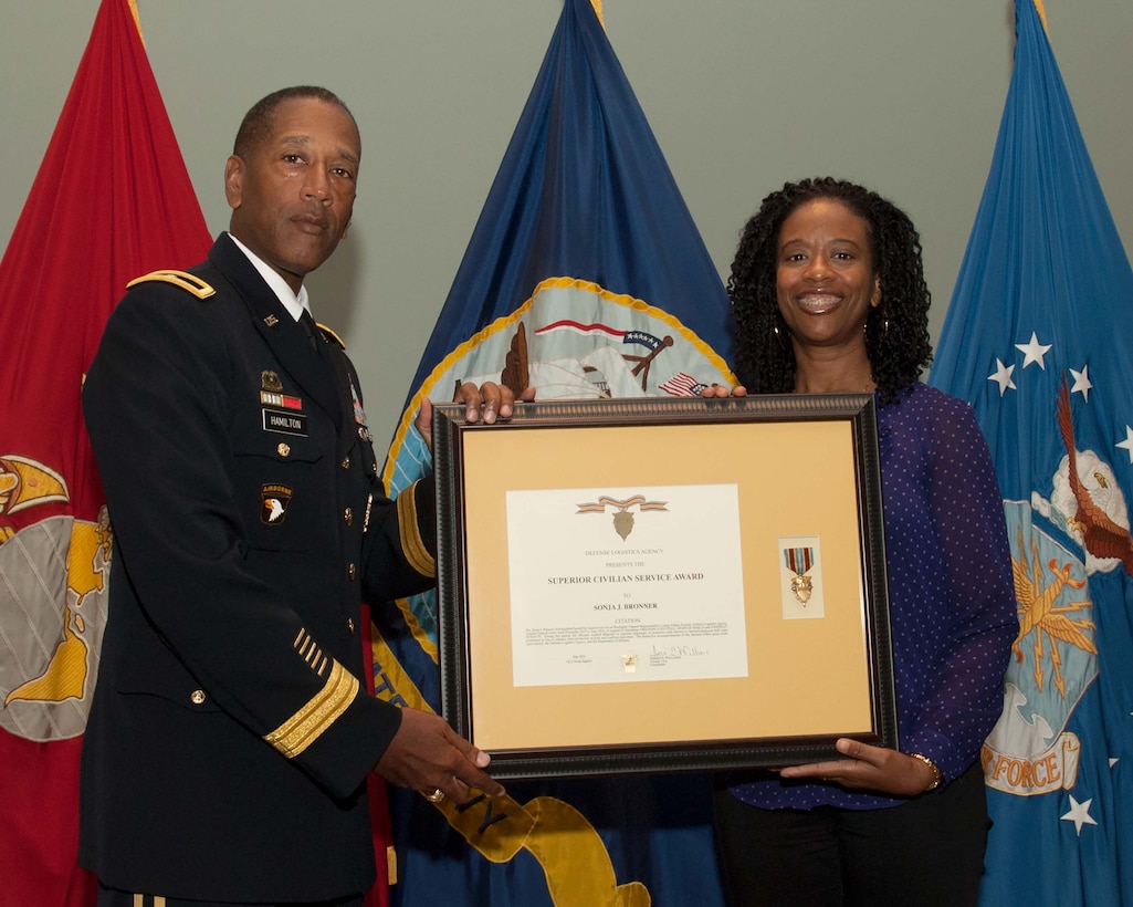
[{"label": "black trousers worn by the woman in the polka dot blouse", "polygon": [[991,821],[979,763],[885,809],[759,809],[716,790],[716,839],[733,907],[974,905]]}]

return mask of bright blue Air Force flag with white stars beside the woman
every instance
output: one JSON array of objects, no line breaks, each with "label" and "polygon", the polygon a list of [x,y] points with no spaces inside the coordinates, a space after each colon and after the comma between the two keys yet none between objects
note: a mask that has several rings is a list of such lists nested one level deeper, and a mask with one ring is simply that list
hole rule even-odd
[{"label": "bright blue Air Force flag with white stars beside the woman", "polygon": [[1133,900],[1133,272],[1032,0],[932,384],[995,457],[1020,629],[982,902]]}]

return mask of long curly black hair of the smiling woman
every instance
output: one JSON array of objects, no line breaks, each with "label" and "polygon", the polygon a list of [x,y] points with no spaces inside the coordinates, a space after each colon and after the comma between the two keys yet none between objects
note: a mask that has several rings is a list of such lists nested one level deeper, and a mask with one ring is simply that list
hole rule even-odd
[{"label": "long curly black hair of the smiling woman", "polygon": [[764,198],[743,228],[727,280],[735,315],[736,375],[751,393],[794,390],[794,348],[775,291],[778,237],[783,221],[815,198],[841,202],[869,228],[881,304],[869,310],[866,353],[879,402],[892,402],[932,362],[920,236],[909,215],[888,200],[830,177],[787,183]]}]

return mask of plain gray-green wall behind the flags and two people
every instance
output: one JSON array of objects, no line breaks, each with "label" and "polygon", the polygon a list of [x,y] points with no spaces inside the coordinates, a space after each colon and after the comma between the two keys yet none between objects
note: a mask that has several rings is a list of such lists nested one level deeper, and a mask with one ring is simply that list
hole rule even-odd
[{"label": "plain gray-green wall behind the flags and two people", "polygon": [[[3,6],[0,245],[99,0]],[[1045,6],[1098,177],[1133,249],[1133,2]],[[308,286],[316,316],[343,334],[358,364],[381,447],[562,0],[138,0],[138,8],[214,234],[228,223],[224,159],[255,100],[314,83],[353,110],[364,144],[353,229]],[[803,176],[846,177],[893,198],[920,229],[938,337],[1011,78],[1010,0],[606,0],[604,11],[722,276],[767,192]],[[82,286],[75,274],[76,296]],[[1111,304],[1130,304],[1130,293],[1115,287]]]}]

